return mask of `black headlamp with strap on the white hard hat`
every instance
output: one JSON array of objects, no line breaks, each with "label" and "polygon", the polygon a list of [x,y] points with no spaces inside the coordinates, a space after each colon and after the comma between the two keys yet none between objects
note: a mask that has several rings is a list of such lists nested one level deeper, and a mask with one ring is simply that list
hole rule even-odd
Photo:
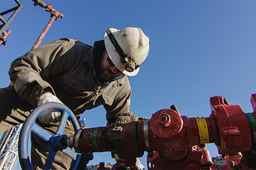
[{"label": "black headlamp with strap on the white hard hat", "polygon": [[117,53],[119,54],[119,56],[121,57],[121,62],[123,64],[125,64],[125,70],[128,72],[133,72],[134,70],[136,70],[137,68],[140,67],[140,65],[136,65],[136,62],[134,61],[134,59],[132,57],[129,57],[127,54],[125,54],[125,52],[122,50],[122,48],[120,47],[120,45],[117,43],[116,38],[113,36],[112,32],[110,29],[108,29],[107,31],[108,37],[111,40],[112,44],[114,45],[114,47],[116,48]]}]

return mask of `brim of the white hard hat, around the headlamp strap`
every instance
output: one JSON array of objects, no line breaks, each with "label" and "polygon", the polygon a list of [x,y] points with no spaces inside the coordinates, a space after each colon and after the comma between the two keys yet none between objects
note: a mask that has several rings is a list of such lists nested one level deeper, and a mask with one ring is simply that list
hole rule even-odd
[{"label": "brim of the white hard hat, around the headlamp strap", "polygon": [[[116,31],[119,31],[115,28],[110,28],[110,30],[113,34]],[[125,70],[125,64],[121,62],[121,57],[117,53],[116,48],[113,46],[107,33],[105,33],[104,42],[105,42],[106,50],[108,52],[108,56],[110,57],[111,61],[116,66],[116,68],[118,68],[119,71],[121,71],[123,74],[128,75],[128,76],[135,76],[139,72],[140,68],[137,68],[133,72],[128,72]]]}]

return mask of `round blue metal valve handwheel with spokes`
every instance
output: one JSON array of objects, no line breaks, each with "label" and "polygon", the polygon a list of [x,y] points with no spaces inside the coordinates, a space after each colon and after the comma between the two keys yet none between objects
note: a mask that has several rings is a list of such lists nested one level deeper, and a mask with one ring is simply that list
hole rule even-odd
[{"label": "round blue metal valve handwheel with spokes", "polygon": [[[38,118],[38,116],[42,112],[48,109],[57,109],[62,112],[61,122],[58,126],[58,130],[55,135],[52,135],[47,130],[44,130],[43,127],[35,123],[35,120]],[[20,166],[23,170],[33,170],[30,159],[29,159],[29,149],[28,149],[29,134],[31,132],[35,133],[37,136],[39,136],[40,138],[44,139],[46,142],[49,143],[50,151],[47,157],[47,161],[44,165],[44,170],[51,169],[52,162],[54,160],[54,157],[57,151],[62,149],[63,149],[62,152],[66,153],[68,156],[70,156],[73,159],[70,170],[76,170],[81,158],[81,154],[74,152],[69,147],[62,147],[62,148],[55,147],[55,145],[59,145],[59,143],[61,143],[60,140],[65,136],[63,135],[63,133],[67,123],[67,119],[69,117],[70,117],[69,120],[71,120],[75,131],[78,130],[79,123],[76,119],[76,116],[73,114],[73,112],[69,108],[67,108],[67,106],[61,103],[57,103],[57,102],[45,103],[35,108],[34,111],[29,114],[29,116],[26,118],[23,124],[22,129],[20,130],[19,144],[18,144]]]}]

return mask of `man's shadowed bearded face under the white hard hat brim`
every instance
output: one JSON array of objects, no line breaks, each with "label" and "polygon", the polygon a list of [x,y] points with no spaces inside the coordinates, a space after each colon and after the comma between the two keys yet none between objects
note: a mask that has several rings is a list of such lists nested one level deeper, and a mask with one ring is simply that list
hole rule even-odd
[{"label": "man's shadowed bearded face under the white hard hat brim", "polygon": [[99,77],[104,80],[111,80],[122,73],[116,68],[116,66],[111,65],[108,62],[108,52],[105,50],[102,56],[102,62],[99,68]]}]

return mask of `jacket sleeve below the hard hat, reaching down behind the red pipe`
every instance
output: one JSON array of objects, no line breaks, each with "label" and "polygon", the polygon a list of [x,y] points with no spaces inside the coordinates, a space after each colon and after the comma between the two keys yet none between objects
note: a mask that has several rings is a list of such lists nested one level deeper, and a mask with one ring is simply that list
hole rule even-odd
[{"label": "jacket sleeve below the hard hat, reaching down behind the red pipe", "polygon": [[[130,87],[130,86],[129,86]],[[131,87],[123,93],[121,96],[116,97],[113,104],[104,105],[106,113],[106,118],[108,124],[114,123],[116,119],[123,115],[125,112],[129,112],[131,103]]]}]

